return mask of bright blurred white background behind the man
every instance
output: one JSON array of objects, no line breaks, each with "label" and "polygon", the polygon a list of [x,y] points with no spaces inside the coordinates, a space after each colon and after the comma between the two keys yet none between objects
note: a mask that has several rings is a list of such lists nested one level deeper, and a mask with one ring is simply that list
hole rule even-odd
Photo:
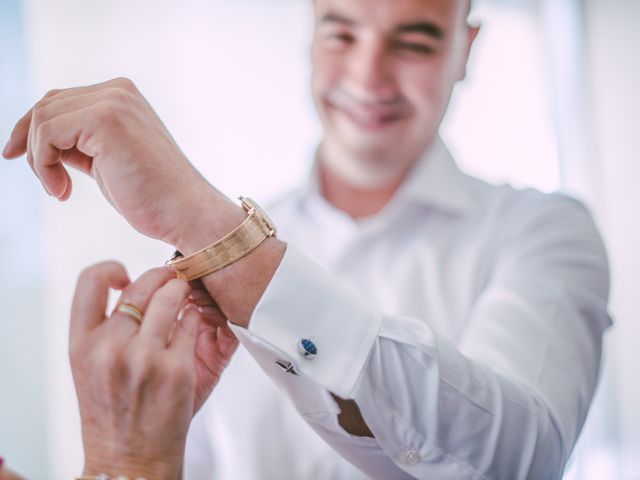
[{"label": "bright blurred white background behind the man", "polygon": [[[0,111],[2,137],[51,88],[127,76],[228,195],[268,201],[305,175],[320,135],[308,93],[310,2],[22,3],[27,83]],[[443,135],[475,175],[565,188],[593,209],[611,253],[616,325],[567,477],[640,478],[640,2],[485,0],[475,17],[483,31]],[[10,252],[0,277],[0,454],[34,479],[72,478],[82,466],[66,354],[77,274],[113,258],[137,275],[171,252],[132,231],[92,181],[74,181],[59,204],[22,160],[0,165],[0,246]]]}]

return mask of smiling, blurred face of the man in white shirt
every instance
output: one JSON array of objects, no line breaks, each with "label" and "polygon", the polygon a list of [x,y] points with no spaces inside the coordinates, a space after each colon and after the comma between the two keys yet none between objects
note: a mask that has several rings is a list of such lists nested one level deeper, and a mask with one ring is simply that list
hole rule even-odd
[{"label": "smiling, blurred face of the man in white shirt", "polygon": [[465,74],[468,0],[316,0],[313,95],[325,141],[364,162],[419,155]]}]

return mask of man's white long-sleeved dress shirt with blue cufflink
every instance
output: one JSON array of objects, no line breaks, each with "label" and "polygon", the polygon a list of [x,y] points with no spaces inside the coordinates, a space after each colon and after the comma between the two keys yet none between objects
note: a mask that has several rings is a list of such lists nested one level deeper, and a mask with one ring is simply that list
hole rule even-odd
[{"label": "man's white long-sleeved dress shirt with blue cufflink", "polygon": [[610,325],[581,204],[469,177],[437,141],[371,218],[315,177],[267,212],[287,251],[232,326],[245,348],[194,421],[187,480],[561,478]]}]

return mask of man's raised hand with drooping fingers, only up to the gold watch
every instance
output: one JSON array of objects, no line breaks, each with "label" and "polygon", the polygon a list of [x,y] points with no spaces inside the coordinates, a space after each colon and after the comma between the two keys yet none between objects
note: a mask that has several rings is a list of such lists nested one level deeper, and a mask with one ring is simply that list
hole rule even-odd
[{"label": "man's raised hand with drooping fingers, only up to the gold watch", "polygon": [[24,153],[50,195],[69,198],[65,167],[78,168],[95,178],[134,228],[171,245],[205,207],[207,195],[219,195],[123,78],[47,93],[16,124],[3,155]]}]

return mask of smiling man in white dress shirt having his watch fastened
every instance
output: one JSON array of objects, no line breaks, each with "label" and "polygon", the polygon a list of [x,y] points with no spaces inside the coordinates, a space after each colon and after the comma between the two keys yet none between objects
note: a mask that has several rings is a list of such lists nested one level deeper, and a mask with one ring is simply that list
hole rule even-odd
[{"label": "smiling man in white dress shirt having his watch fastened", "polygon": [[[316,0],[325,136],[310,185],[271,210],[288,245],[199,176],[131,82],[50,92],[16,126],[6,157],[26,151],[63,200],[64,165],[93,175],[187,256],[176,268],[198,270],[264,371],[231,363],[188,473],[561,477],[597,382],[607,261],[577,202],[467,177],[440,141],[478,32],[468,8]],[[201,252],[256,216],[259,246]]]}]

